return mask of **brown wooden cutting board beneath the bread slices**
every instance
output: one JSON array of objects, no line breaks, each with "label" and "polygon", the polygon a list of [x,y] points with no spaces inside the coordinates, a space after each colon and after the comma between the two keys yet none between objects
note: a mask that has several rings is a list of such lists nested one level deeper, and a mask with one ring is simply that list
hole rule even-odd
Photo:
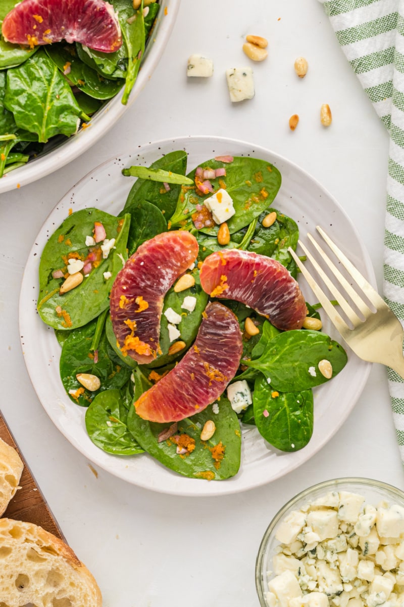
[{"label": "brown wooden cutting board beneath the bread slices", "polygon": [[13,435],[5,423],[1,411],[0,438],[18,451],[18,454],[24,463],[24,470],[22,470],[21,480],[19,481],[19,486],[22,488],[18,489],[16,495],[13,497],[12,501],[10,501],[10,504],[8,504],[7,510],[5,510],[3,516],[18,521],[25,521],[26,523],[35,523],[66,542],[58,522],[55,517],[53,517],[53,514],[42,495],[41,489],[39,489],[35,478],[32,476],[31,471],[27,466],[24,455],[22,455],[21,450],[16,445]]}]

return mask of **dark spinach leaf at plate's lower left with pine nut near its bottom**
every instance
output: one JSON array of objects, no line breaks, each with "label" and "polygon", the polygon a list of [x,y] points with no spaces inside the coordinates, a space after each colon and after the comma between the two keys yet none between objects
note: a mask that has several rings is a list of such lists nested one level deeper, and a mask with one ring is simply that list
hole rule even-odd
[{"label": "dark spinach leaf at plate's lower left with pine nut near its bottom", "polygon": [[[103,331],[98,345],[98,362],[94,362],[91,350],[97,320],[91,320],[84,327],[70,331],[62,347],[59,369],[62,384],[73,402],[88,407],[96,395],[110,388],[122,388],[130,379],[131,369],[124,367]],[[78,373],[90,373],[101,380],[101,387],[95,392],[83,388],[76,379]],[[70,392],[71,391],[71,392]]]}]

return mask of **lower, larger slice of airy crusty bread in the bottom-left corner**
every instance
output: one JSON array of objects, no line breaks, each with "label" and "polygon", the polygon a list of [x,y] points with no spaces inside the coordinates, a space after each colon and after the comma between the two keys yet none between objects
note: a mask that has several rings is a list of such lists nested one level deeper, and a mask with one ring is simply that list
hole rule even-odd
[{"label": "lower, larger slice of airy crusty bread in the bottom-left corner", "polygon": [[0,604],[102,607],[101,591],[67,544],[33,523],[0,519]]}]

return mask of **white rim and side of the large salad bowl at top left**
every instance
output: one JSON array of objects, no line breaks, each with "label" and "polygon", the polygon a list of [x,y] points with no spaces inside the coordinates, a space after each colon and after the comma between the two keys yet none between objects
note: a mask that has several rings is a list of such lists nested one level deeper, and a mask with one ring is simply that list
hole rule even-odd
[{"label": "white rim and side of the large salad bowl at top left", "polygon": [[127,105],[121,103],[123,89],[105,103],[101,109],[91,118],[90,126],[81,129],[78,134],[73,135],[58,147],[49,152],[39,155],[35,160],[30,160],[24,166],[6,173],[0,178],[0,194],[8,192],[17,187],[22,187],[36,181],[45,175],[58,171],[62,166],[74,160],[88,148],[94,145],[99,138],[121,118],[125,110],[136,100],[137,95],[150,79],[159,59],[167,45],[168,38],[174,27],[174,22],[179,10],[180,0],[160,0],[160,10],[154,25],[153,36],[150,37],[142,62],[142,69],[131,90]]}]

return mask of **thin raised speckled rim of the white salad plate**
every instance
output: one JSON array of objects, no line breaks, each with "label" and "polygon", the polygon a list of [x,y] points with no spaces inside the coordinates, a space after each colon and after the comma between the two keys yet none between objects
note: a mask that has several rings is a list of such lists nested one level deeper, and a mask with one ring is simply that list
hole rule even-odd
[{"label": "thin raised speckled rim of the white salad plate", "polygon": [[[24,356],[25,368],[27,369],[27,373],[28,373],[28,376],[30,377],[30,381],[31,381],[31,384],[33,385],[36,396],[37,396],[39,402],[41,403],[41,406],[45,410],[45,413],[47,413],[47,415],[50,417],[53,424],[55,424],[56,428],[59,430],[59,432],[62,433],[62,435],[68,440],[68,442],[73,447],[75,447],[75,449],[77,449],[81,453],[81,455],[83,455],[85,458],[89,459],[92,463],[96,464],[96,466],[101,467],[101,469],[105,470],[105,472],[108,472],[108,473],[112,474],[113,476],[117,476],[121,480],[123,480],[127,483],[130,483],[130,484],[133,484],[134,486],[142,487],[143,489],[153,490],[154,492],[157,492],[157,493],[164,493],[167,495],[177,495],[177,496],[181,496],[181,497],[199,497],[200,498],[200,497],[217,497],[220,495],[231,495],[234,493],[241,493],[241,492],[244,492],[247,490],[255,489],[257,487],[272,483],[273,481],[275,481],[279,478],[282,478],[282,476],[285,476],[286,474],[293,472],[293,470],[296,470],[299,466],[302,466],[302,464],[306,463],[306,461],[311,459],[314,455],[316,455],[316,453],[318,453],[322,449],[323,446],[325,446],[326,442],[329,439],[333,438],[333,436],[337,433],[337,431],[340,429],[342,424],[346,421],[348,416],[351,414],[351,412],[354,408],[354,405],[356,404],[357,400],[359,399],[359,397],[363,391],[363,388],[365,387],[366,381],[368,380],[368,376],[371,371],[372,364],[369,362],[366,362],[366,361],[361,361],[360,359],[357,359],[357,357],[356,357],[356,359],[358,361],[360,361],[360,363],[362,364],[362,367],[363,367],[362,379],[355,386],[355,395],[352,400],[351,406],[341,416],[341,418],[339,419],[339,423],[337,424],[337,426],[334,427],[334,432],[332,433],[331,436],[327,436],[327,438],[323,441],[320,441],[319,444],[313,445],[310,452],[308,452],[308,454],[306,456],[303,456],[303,458],[301,458],[301,456],[300,456],[300,458],[295,458],[296,461],[293,461],[293,463],[288,467],[287,470],[280,469],[269,480],[267,478],[264,478],[263,480],[257,481],[253,484],[250,484],[249,486],[243,486],[243,487],[234,486],[234,482],[237,482],[237,475],[235,475],[232,478],[227,479],[225,481],[216,481],[216,483],[207,483],[205,485],[205,487],[206,486],[208,486],[210,488],[216,487],[216,489],[213,488],[213,490],[210,489],[208,491],[202,491],[202,492],[197,489],[192,490],[193,484],[194,484],[195,488],[197,486],[202,488],[200,486],[200,483],[202,481],[197,480],[197,479],[187,478],[187,477],[184,477],[181,475],[177,475],[177,473],[175,473],[171,470],[167,470],[165,468],[164,468],[164,470],[167,470],[168,473],[172,473],[175,476],[180,476],[180,478],[182,478],[182,479],[185,478],[185,480],[190,481],[190,489],[187,488],[186,490],[185,489],[184,490],[182,490],[182,489],[171,490],[171,489],[165,488],[165,487],[163,487],[163,488],[156,487],[156,486],[154,486],[153,483],[147,483],[145,481],[142,481],[142,479],[141,480],[128,479],[127,477],[124,476],[123,473],[119,472],[119,469],[111,470],[111,467],[110,466],[108,467],[108,465],[106,463],[104,464],[103,461],[99,461],[99,460],[91,458],[91,456],[88,454],[87,450],[85,450],[85,448],[82,447],[78,441],[76,441],[76,440],[73,441],[71,436],[67,432],[65,432],[62,424],[55,421],[54,417],[51,416],[50,412],[47,409],[45,409],[45,405],[42,404],[41,398],[40,398],[40,396],[38,394],[38,390],[36,388],[36,384],[33,381],[33,378],[31,376],[30,368],[28,367],[27,360],[26,360],[25,354],[24,354],[24,342],[22,341],[23,337],[21,337],[21,336],[24,336],[24,333],[25,333],[25,331],[24,331],[24,313],[23,313],[25,302],[24,303],[22,302],[22,296],[23,296],[24,285],[25,285],[25,280],[26,280],[26,276],[27,276],[26,270],[32,263],[32,262],[30,263],[30,260],[33,259],[33,254],[36,252],[37,245],[35,243],[36,243],[36,241],[38,241],[39,235],[41,234],[42,231],[45,231],[46,223],[51,218],[51,216],[58,210],[58,206],[62,202],[65,202],[67,200],[67,198],[70,197],[70,199],[71,199],[72,192],[74,192],[75,189],[78,186],[80,186],[82,183],[87,181],[88,178],[90,178],[92,174],[94,174],[97,171],[100,171],[104,166],[113,164],[114,161],[118,161],[118,160],[122,161],[122,159],[125,159],[127,157],[134,157],[136,155],[147,154],[148,151],[153,151],[153,149],[157,150],[159,147],[163,147],[163,146],[167,146],[167,145],[171,145],[171,144],[176,144],[177,149],[184,149],[184,151],[187,151],[187,149],[186,149],[187,141],[190,141],[190,140],[197,141],[198,143],[202,142],[202,143],[207,143],[207,144],[213,144],[213,143],[225,144],[230,149],[231,149],[231,146],[233,146],[234,148],[237,148],[237,146],[243,146],[245,148],[251,149],[251,152],[253,152],[254,155],[256,155],[256,157],[259,157],[258,154],[260,152],[263,152],[263,154],[270,155],[273,158],[274,164],[286,163],[291,168],[296,169],[296,171],[298,171],[300,174],[304,175],[305,178],[308,178],[310,181],[312,181],[317,186],[317,188],[319,188],[323,192],[323,194],[325,194],[330,200],[333,201],[334,205],[337,207],[340,214],[349,223],[354,235],[356,236],[357,244],[359,245],[360,253],[362,255],[362,259],[363,259],[364,266],[365,266],[366,273],[367,273],[367,278],[374,287],[377,287],[377,284],[376,284],[376,276],[374,274],[374,268],[371,263],[371,259],[369,257],[368,251],[359,235],[359,232],[357,231],[354,223],[349,218],[349,215],[346,213],[345,209],[343,209],[342,206],[340,206],[340,204],[336,200],[336,198],[334,198],[334,196],[320,183],[319,180],[317,180],[315,177],[313,177],[313,175],[311,175],[308,171],[303,169],[298,164],[294,163],[291,160],[288,160],[288,158],[284,157],[283,155],[278,154],[277,152],[272,151],[269,148],[264,148],[263,146],[252,144],[252,143],[250,143],[250,141],[240,140],[240,139],[236,139],[236,138],[228,138],[228,137],[219,136],[219,135],[180,135],[178,137],[167,137],[162,140],[156,140],[156,141],[144,143],[144,144],[137,146],[133,152],[125,152],[125,154],[121,154],[121,155],[116,154],[113,157],[110,157],[108,160],[105,160],[103,163],[98,164],[98,166],[96,166],[93,169],[91,169],[90,171],[88,171],[87,174],[84,175],[84,177],[82,177],[70,189],[68,189],[68,191],[65,192],[65,194],[59,199],[59,201],[56,203],[56,205],[53,207],[53,209],[51,209],[50,213],[45,218],[44,222],[42,223],[41,228],[39,229],[38,234],[36,234],[36,236],[35,236],[33,245],[31,246],[30,251],[27,256],[27,262],[25,263],[25,266],[24,266],[24,273],[23,273],[22,281],[21,281],[21,290],[20,290],[20,294],[19,294],[18,317],[19,317],[20,343],[21,343],[21,347],[22,347],[22,353]],[[187,152],[187,154],[188,154],[188,152]],[[299,231],[300,231],[300,226],[299,226]],[[26,311],[26,308],[25,308],[25,311]],[[46,327],[45,324],[44,324],[44,327]],[[104,453],[104,452],[102,452],[102,450],[100,450],[100,452]],[[298,452],[293,452],[290,454],[285,454],[285,455],[293,456],[293,455],[296,455],[297,453],[301,454],[302,450],[300,450]],[[107,454],[107,455],[111,455],[111,454]],[[111,455],[111,456],[114,457],[113,455]],[[119,456],[115,456],[115,457],[119,457]],[[233,480],[233,483],[231,482],[232,480]],[[196,486],[195,483],[199,483],[199,484]],[[222,488],[220,488],[220,487],[222,487]]]}]

